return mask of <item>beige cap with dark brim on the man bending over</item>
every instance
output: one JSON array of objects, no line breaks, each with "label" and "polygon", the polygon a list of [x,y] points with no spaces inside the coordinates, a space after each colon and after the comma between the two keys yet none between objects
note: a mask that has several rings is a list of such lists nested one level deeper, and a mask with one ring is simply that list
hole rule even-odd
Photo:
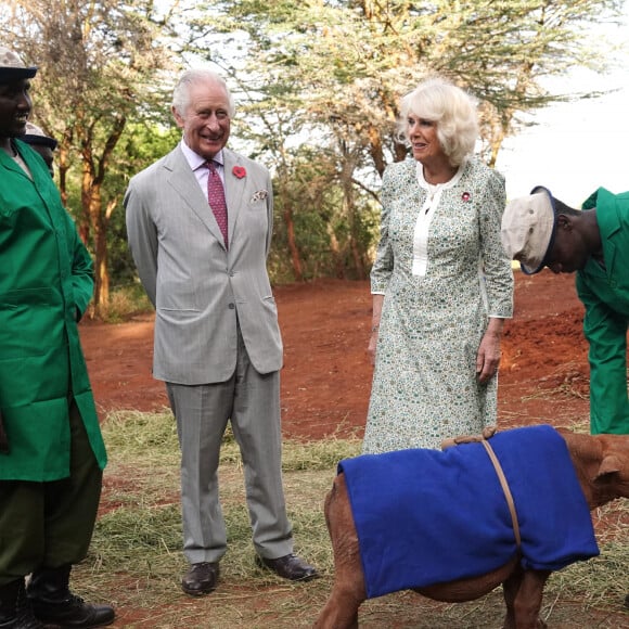
[{"label": "beige cap with dark brim on the man bending over", "polygon": [[543,269],[555,231],[555,201],[543,185],[536,185],[528,196],[506,204],[500,232],[502,246],[528,275]]}]

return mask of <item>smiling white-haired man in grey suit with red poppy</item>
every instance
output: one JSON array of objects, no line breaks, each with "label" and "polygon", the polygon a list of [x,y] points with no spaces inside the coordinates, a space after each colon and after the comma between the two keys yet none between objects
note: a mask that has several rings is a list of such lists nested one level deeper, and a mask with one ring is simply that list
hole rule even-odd
[{"label": "smiling white-haired man in grey suit with red poppy", "polygon": [[166,382],[181,447],[191,564],[182,589],[203,595],[218,581],[227,534],[217,468],[228,421],[244,463],[259,563],[308,580],[317,570],[293,554],[282,488],[282,341],[266,269],[270,175],[226,149],[234,104],[217,74],[184,73],[172,114],[181,142],[131,179],[125,207],[131,253],[156,310],[153,375]]}]

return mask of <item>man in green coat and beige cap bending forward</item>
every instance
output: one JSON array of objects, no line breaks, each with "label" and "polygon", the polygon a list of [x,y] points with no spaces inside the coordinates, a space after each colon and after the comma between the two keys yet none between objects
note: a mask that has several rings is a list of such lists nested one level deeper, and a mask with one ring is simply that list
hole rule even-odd
[{"label": "man in green coat and beige cap bending forward", "polygon": [[592,434],[629,434],[627,326],[629,322],[629,192],[600,188],[573,209],[543,187],[508,204],[502,218],[506,253],[525,273],[549,267],[577,272],[590,345]]}]

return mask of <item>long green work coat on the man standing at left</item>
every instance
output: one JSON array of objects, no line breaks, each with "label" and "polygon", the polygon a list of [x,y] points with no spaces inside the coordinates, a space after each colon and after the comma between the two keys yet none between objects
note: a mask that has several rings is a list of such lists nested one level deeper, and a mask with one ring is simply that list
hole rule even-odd
[{"label": "long green work coat on the man standing at left", "polygon": [[99,465],[106,462],[77,320],[92,261],[41,157],[16,142],[33,180],[0,151],[0,480],[69,476],[68,396]]}]

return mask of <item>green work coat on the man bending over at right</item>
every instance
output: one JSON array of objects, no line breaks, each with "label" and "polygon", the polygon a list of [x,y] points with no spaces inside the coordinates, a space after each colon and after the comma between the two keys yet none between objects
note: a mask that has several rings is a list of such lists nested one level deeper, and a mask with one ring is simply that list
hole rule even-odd
[{"label": "green work coat on the man bending over at right", "polygon": [[627,325],[629,322],[629,192],[600,188],[583,207],[596,207],[603,268],[594,258],[577,273],[586,307],[583,332],[590,344],[592,434],[629,434]]}]

